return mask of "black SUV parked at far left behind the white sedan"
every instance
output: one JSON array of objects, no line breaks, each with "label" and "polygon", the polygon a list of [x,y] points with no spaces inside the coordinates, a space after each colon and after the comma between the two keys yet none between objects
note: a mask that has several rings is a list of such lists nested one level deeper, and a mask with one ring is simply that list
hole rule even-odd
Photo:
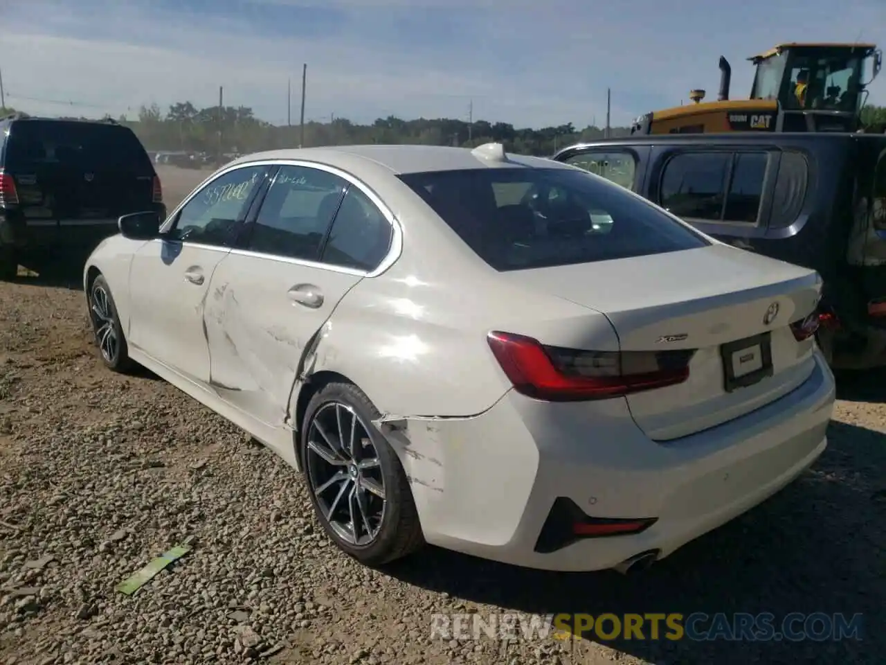
[{"label": "black SUV parked at far left behind the white sedan", "polygon": [[114,121],[0,119],[0,279],[19,262],[88,254],[120,215],[166,216],[159,177],[131,129]]}]

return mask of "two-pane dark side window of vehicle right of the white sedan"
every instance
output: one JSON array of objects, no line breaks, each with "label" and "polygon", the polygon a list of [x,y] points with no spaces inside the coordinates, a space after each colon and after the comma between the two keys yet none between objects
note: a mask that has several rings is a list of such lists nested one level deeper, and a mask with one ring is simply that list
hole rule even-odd
[{"label": "two-pane dark side window of vehicle right of the white sedan", "polygon": [[682,153],[664,167],[659,203],[674,215],[757,223],[766,153]]}]

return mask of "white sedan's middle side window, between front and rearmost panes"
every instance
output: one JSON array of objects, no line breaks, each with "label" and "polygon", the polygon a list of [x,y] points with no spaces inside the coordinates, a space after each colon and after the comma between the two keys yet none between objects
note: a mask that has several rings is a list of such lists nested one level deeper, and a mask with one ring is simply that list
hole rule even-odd
[{"label": "white sedan's middle side window, between front and rearmost panes", "polygon": [[247,249],[317,261],[346,181],[317,168],[282,166],[261,203]]}]

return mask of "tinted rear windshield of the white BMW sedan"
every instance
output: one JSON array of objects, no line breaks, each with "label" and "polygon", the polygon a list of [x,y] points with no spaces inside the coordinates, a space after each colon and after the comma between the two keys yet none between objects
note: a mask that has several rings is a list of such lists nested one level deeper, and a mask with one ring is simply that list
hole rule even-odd
[{"label": "tinted rear windshield of the white BMW sedan", "polygon": [[710,243],[618,184],[568,168],[400,176],[495,270],[608,261]]}]

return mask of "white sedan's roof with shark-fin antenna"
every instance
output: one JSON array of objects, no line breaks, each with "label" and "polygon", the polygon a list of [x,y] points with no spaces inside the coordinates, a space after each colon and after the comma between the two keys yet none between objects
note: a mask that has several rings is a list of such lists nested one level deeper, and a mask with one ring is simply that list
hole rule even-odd
[{"label": "white sedan's roof with shark-fin antenna", "polygon": [[351,172],[360,170],[361,166],[383,167],[396,175],[464,168],[563,168],[558,162],[542,157],[504,153],[501,144],[485,144],[473,150],[445,145],[334,145],[253,153],[231,163],[264,160],[316,161]]}]

